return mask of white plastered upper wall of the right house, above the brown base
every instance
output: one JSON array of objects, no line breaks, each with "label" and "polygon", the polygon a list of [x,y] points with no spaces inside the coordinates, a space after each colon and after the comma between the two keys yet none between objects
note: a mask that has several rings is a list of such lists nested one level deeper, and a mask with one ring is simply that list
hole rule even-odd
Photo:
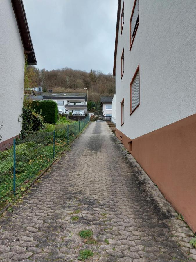
[{"label": "white plastered upper wall of the right house, above the brown base", "polygon": [[[116,128],[131,139],[196,113],[196,1],[139,0],[139,27],[130,51],[133,4],[134,0],[124,1],[125,22],[122,36],[119,26],[116,58]],[[122,6],[123,1],[121,10]],[[138,65],[140,105],[130,115],[130,82]]]}]

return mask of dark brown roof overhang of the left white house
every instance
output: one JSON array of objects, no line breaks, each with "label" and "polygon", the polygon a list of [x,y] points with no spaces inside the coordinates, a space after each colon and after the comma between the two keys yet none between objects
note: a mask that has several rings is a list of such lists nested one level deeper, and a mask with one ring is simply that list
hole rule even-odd
[{"label": "dark brown roof overhang of the left white house", "polygon": [[22,0],[11,0],[14,9],[18,29],[24,47],[24,54],[27,55],[29,65],[37,65],[35,52],[28,28],[26,14]]}]

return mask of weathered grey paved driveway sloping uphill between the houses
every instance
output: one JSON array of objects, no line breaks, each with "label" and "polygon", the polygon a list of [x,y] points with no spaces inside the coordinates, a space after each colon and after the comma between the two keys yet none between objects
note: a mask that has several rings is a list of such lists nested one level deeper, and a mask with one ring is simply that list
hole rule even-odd
[{"label": "weathered grey paved driveway sloping uphill between the houses", "polygon": [[1,218],[0,260],[78,261],[83,249],[94,252],[87,261],[194,260],[191,231],[123,149],[106,123],[91,123]]}]

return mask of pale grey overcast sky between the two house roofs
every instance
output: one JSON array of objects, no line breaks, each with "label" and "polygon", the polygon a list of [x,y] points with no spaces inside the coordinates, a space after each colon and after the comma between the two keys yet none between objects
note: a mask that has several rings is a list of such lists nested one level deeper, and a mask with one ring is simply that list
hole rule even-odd
[{"label": "pale grey overcast sky between the two house roofs", "polygon": [[113,70],[118,0],[23,0],[37,66]]}]

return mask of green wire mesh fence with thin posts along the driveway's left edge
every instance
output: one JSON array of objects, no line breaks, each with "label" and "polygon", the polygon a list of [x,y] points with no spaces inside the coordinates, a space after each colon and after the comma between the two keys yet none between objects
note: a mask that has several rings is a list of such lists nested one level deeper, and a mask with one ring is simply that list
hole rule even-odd
[{"label": "green wire mesh fence with thin posts along the driveway's left edge", "polygon": [[[82,132],[89,117],[58,125],[51,132],[40,130],[25,139],[14,139],[0,151],[0,209],[5,201],[21,194],[46,167]],[[5,149],[5,148],[3,148]]]}]

